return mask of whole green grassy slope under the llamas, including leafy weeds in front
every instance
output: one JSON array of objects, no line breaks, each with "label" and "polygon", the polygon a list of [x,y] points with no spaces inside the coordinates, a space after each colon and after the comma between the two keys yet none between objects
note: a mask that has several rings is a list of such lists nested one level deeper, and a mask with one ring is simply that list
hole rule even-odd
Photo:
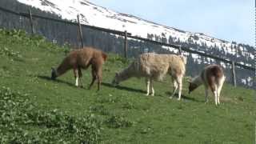
[{"label": "whole green grassy slope under the llamas, including leafy weeds in front", "polygon": [[[110,54],[104,65],[102,90],[97,91],[96,85],[87,90],[90,70],[83,71],[85,88],[77,88],[71,70],[55,82],[50,80],[50,67],[58,66],[67,51],[67,46],[56,46],[38,36],[27,37],[22,31],[0,30],[1,100],[6,94],[4,87],[8,87],[10,102],[21,103],[9,109],[0,106],[0,115],[13,114],[10,118],[14,120],[6,120],[5,125],[10,126],[12,122],[15,125],[12,130],[4,128],[1,120],[6,116],[2,116],[0,136],[10,136],[0,138],[2,142],[26,143],[34,138],[33,142],[58,143],[58,138],[64,136],[63,142],[79,143],[82,138],[89,138],[88,135],[92,143],[254,142],[254,90],[225,84],[221,105],[215,106],[213,96],[205,104],[203,87],[188,95],[185,82],[179,102],[177,98],[169,98],[172,85],[166,77],[166,81],[154,83],[156,95],[147,97],[143,78],[130,78],[117,88],[110,85],[114,73],[129,63],[114,54]],[[33,106],[31,110],[30,106]],[[12,111],[14,113],[10,113]],[[52,119],[56,115],[59,122]],[[42,117],[42,121],[34,117]],[[70,132],[70,118],[74,118],[78,130],[87,130],[88,134]],[[82,124],[87,121],[91,122]],[[20,136],[15,136],[15,130],[22,130],[18,133]],[[55,134],[56,138],[50,134]],[[43,139],[35,140],[36,135]],[[19,141],[11,139],[14,137]]]}]

